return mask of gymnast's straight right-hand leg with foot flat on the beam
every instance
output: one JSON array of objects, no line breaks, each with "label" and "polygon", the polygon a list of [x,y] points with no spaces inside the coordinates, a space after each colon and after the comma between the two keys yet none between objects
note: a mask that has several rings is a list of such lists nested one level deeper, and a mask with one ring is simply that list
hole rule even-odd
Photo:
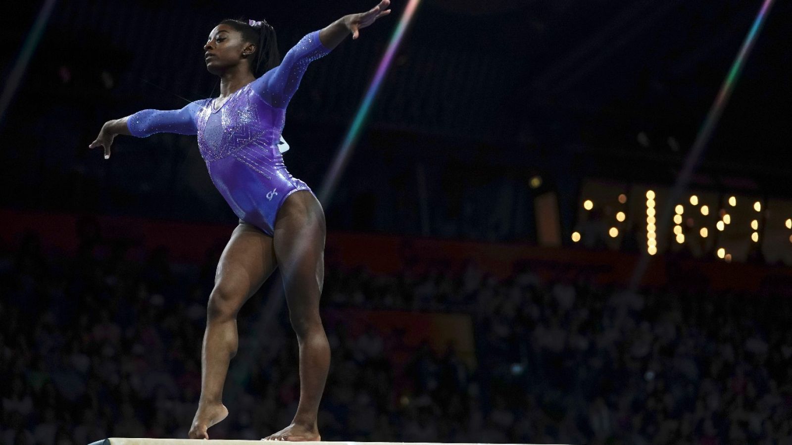
[{"label": "gymnast's straight right-hand leg with foot flat on the beam", "polygon": [[299,344],[299,404],[291,424],[271,440],[319,440],[317,413],[330,367],[319,297],[325,278],[325,214],[306,190],[288,196],[275,221],[275,256],[284,280],[291,327]]}]

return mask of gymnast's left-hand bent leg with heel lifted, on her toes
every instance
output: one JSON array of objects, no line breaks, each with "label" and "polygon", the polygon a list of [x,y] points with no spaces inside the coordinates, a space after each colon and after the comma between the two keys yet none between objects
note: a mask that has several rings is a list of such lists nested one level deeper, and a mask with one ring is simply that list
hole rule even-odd
[{"label": "gymnast's left-hand bent leg with heel lifted, on her toes", "polygon": [[228,415],[223,383],[228,363],[237,353],[237,313],[276,268],[272,237],[240,223],[223,250],[209,295],[201,352],[201,391],[190,439],[208,439],[207,428]]}]

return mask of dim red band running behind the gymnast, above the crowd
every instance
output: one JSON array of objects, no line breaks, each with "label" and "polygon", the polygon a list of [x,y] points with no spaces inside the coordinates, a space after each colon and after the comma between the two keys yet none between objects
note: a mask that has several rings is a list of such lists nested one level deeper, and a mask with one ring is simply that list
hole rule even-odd
[{"label": "dim red band running behind the gymnast, above the crowd", "polygon": [[[45,249],[74,253],[78,245],[78,215],[0,210],[0,242],[13,249],[25,231],[39,234]],[[228,241],[233,225],[158,221],[118,216],[87,216],[105,239],[125,238],[143,255],[160,245],[169,250],[171,261],[200,263],[208,250],[219,252]],[[379,234],[330,233],[326,261],[337,267],[363,267],[375,273],[397,273],[428,268],[459,270],[466,261],[498,278],[511,276],[520,264],[543,280],[588,276],[595,283],[626,284],[638,255],[614,251],[537,247],[516,243],[485,243],[408,238]],[[727,264],[722,261],[682,260],[658,255],[652,258],[643,284],[700,283],[714,290],[790,292],[792,268]]]}]

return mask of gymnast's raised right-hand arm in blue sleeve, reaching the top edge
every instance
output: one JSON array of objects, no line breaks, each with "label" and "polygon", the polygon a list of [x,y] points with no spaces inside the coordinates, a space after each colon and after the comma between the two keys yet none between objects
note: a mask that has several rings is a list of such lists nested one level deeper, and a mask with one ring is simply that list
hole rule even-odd
[{"label": "gymnast's raised right-hand arm in blue sleeve, reaching the top edge", "polygon": [[310,32],[286,53],[278,67],[253,81],[253,89],[269,105],[285,108],[297,91],[309,63],[336,48],[348,33],[352,32],[352,38],[356,39],[360,29],[390,13],[389,5],[390,0],[383,0],[365,13],[345,15],[323,29]]}]

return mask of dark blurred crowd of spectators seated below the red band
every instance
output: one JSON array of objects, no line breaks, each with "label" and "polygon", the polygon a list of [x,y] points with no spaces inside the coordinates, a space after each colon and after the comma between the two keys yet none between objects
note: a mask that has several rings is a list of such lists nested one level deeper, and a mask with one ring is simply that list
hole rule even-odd
[{"label": "dark blurred crowd of spectators seated below the red band", "polygon": [[[219,252],[177,264],[95,230],[80,239],[64,255],[29,234],[0,255],[0,443],[185,437]],[[253,323],[261,295],[240,314],[237,390],[213,439],[259,439],[295,413],[296,341],[284,307]],[[395,276],[329,264],[322,305],[468,314],[476,350],[474,366],[429,344],[394,363],[403,333],[326,323],[324,440],[792,443],[789,299],[631,293],[575,272],[540,280],[530,264],[505,280],[473,263]],[[253,349],[252,375],[236,372]]]}]

